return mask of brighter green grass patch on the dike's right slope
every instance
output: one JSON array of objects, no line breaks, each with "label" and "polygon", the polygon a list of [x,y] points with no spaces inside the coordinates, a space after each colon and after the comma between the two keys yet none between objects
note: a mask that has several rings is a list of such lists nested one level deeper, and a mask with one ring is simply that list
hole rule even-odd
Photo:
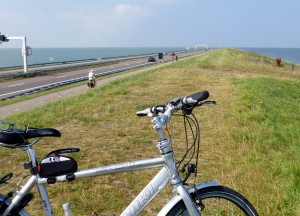
[{"label": "brighter green grass patch on the dike's right slope", "polygon": [[[296,215],[300,208],[300,82],[275,78],[246,78],[233,81],[240,95],[239,130],[234,138],[250,147],[249,164],[260,164],[263,188],[272,189],[266,208],[282,215]],[[269,193],[263,189],[261,192]],[[277,194],[278,198],[269,200]],[[298,212],[297,212],[298,211]]]}]

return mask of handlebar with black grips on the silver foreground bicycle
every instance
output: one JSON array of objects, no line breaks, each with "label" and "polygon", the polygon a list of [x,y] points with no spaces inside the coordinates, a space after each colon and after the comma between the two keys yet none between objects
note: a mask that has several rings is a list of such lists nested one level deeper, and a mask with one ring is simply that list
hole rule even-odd
[{"label": "handlebar with black grips on the silver foreground bicycle", "polygon": [[[209,97],[208,91],[197,92],[195,94],[189,95],[181,98],[175,98],[171,100],[167,105],[158,105],[144,110],[136,112],[137,116],[151,116],[152,114],[165,113],[167,109],[172,110],[183,110],[185,113],[190,113],[193,108],[201,106],[204,104],[203,100]],[[215,102],[210,101],[210,104],[215,104]]]}]

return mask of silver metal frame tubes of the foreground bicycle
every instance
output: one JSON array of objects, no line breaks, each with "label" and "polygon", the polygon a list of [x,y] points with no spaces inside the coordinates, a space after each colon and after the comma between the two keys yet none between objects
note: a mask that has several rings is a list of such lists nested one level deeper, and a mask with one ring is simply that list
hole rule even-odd
[{"label": "silver metal frame tubes of the foreground bicycle", "polygon": [[[32,154],[32,149],[30,149],[30,151],[30,155],[34,156],[34,154]],[[173,155],[173,153],[170,154],[171,156]],[[102,176],[114,173],[124,173],[136,170],[162,167],[158,174],[149,182],[149,184],[140,192],[140,194],[130,203],[130,205],[121,214],[122,216],[137,215],[149,204],[149,202],[155,197],[157,193],[159,193],[162,189],[165,188],[168,182],[172,182],[172,178],[174,179],[174,177],[171,176],[171,171],[169,170],[166,164],[166,157],[170,157],[170,155],[163,155],[161,158],[138,160],[120,164],[113,164],[109,166],[101,166],[87,170],[81,170],[75,172],[74,175],[75,179],[81,179],[93,176]],[[22,187],[19,193],[12,200],[11,205],[9,206],[9,208],[6,209],[6,212],[3,215],[5,216],[7,212],[11,211],[12,208],[22,199],[22,197],[25,194],[27,194],[34,187],[35,184],[37,184],[44,208],[44,213],[47,216],[53,216],[51,203],[45,186],[46,184],[48,184],[47,180],[47,178],[41,178],[38,174],[31,176],[27,183]],[[56,182],[66,181],[66,175],[56,177]],[[189,203],[189,200],[191,200],[188,191],[182,184],[179,183],[177,185],[174,185],[174,191],[177,197],[185,200],[187,203]],[[190,204],[193,206],[193,203]]]}]

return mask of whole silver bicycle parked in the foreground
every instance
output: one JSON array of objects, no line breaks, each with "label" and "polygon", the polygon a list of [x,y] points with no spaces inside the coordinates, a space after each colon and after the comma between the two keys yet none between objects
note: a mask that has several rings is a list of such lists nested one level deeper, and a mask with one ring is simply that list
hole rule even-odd
[{"label": "whole silver bicycle parked in the foreground", "polygon": [[[171,184],[173,187],[173,198],[162,207],[158,213],[159,216],[258,215],[253,205],[244,196],[233,189],[221,186],[217,181],[187,184],[187,179],[191,174],[197,175],[200,145],[199,124],[192,111],[194,108],[202,105],[215,104],[215,101],[207,101],[208,97],[209,93],[207,91],[198,92],[184,98],[175,98],[166,105],[154,106],[136,113],[138,116],[149,116],[152,118],[153,128],[159,137],[156,147],[160,152],[160,157],[79,171],[77,171],[76,161],[74,162],[74,160],[71,160],[72,158],[62,156],[62,153],[78,152],[79,149],[76,148],[60,149],[51,152],[45,158],[47,163],[43,163],[44,160],[41,162],[37,161],[33,145],[43,137],[60,137],[61,134],[58,130],[53,128],[31,128],[27,125],[6,121],[0,122],[0,146],[27,151],[29,163],[26,163],[24,168],[29,169],[31,172],[29,180],[20,191],[13,190],[7,195],[0,195],[0,214],[3,216],[29,215],[24,208],[33,197],[30,191],[34,185],[38,188],[45,215],[52,216],[53,210],[46,184],[162,167],[122,212],[122,216],[138,215],[167,184]],[[186,126],[189,126],[193,142],[192,145],[187,147],[182,159],[176,162],[171,148],[172,139],[166,138],[165,130],[168,131],[167,125],[170,123],[171,117],[179,110],[182,111],[182,116],[185,120],[186,136],[188,131]],[[34,140],[29,142],[31,139]],[[188,143],[188,140],[186,142]],[[188,153],[191,153],[192,156],[188,157]],[[191,158],[196,159],[195,164],[191,162]],[[186,159],[187,162],[184,162]],[[65,170],[57,171],[57,166],[54,165],[58,163],[61,166],[64,161],[68,161],[71,166],[68,166]],[[51,164],[54,164],[52,168]],[[44,165],[50,165],[48,170]],[[41,166],[42,169],[45,168],[44,172],[41,172]],[[185,173],[186,176],[181,177],[182,174],[180,175],[180,173]]]}]

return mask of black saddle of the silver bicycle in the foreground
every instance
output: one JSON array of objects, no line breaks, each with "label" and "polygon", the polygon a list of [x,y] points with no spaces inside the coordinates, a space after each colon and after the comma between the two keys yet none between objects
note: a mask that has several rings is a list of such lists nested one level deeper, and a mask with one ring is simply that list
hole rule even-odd
[{"label": "black saddle of the silver bicycle in the foreground", "polygon": [[[58,130],[53,128],[29,128],[26,132],[0,131],[0,145],[21,145],[27,143],[27,139],[38,137],[60,137]],[[17,147],[17,146],[15,146]]]}]

